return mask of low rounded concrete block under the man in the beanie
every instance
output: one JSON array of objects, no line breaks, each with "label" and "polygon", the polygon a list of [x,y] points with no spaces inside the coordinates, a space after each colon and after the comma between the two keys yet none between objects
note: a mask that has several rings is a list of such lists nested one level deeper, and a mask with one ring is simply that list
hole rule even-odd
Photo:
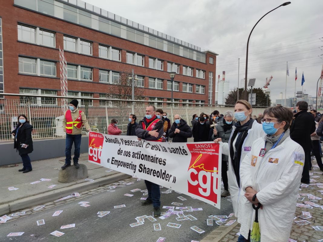
[{"label": "low rounded concrete block under the man in the beanie", "polygon": [[58,173],[58,182],[68,183],[88,177],[88,167],[84,164],[79,164],[80,167],[68,166],[65,169],[60,169]]}]

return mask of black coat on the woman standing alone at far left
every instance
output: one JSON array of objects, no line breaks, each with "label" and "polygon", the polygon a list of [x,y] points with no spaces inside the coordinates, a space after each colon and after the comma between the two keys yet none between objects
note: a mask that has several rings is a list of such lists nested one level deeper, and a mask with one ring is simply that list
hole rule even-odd
[{"label": "black coat on the woman standing alone at far left", "polygon": [[[31,131],[33,130],[33,126],[29,123],[24,123],[18,130],[17,138],[16,138],[16,130],[20,125],[18,125],[15,130],[11,133],[15,136],[14,141],[14,149],[19,151],[19,155],[26,155],[33,152],[33,139],[31,137]],[[28,145],[27,148],[22,148],[21,144]]]}]

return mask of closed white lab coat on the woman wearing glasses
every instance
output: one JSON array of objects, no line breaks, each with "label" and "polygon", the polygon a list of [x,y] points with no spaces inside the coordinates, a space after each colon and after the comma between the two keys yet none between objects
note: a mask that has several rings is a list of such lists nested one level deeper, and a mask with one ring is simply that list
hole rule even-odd
[{"label": "closed white lab coat on the woman wearing glasses", "polygon": [[[264,147],[264,137],[255,140],[240,165],[243,190],[239,202],[240,233],[247,238],[255,220],[255,210],[244,196],[245,188],[250,186],[257,191],[263,205],[263,209],[258,210],[261,242],[286,242],[294,221],[304,150],[289,136],[265,156],[259,156]],[[255,166],[252,166],[255,157]],[[269,162],[270,158],[273,163]]]}]

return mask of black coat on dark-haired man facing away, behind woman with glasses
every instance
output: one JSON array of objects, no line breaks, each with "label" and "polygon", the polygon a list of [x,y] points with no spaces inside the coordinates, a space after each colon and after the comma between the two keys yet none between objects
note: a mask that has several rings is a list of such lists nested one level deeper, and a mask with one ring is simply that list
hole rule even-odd
[{"label": "black coat on dark-haired man facing away, behind woman with glasses", "polygon": [[290,138],[298,143],[305,152],[312,148],[311,134],[315,132],[314,116],[307,110],[296,113],[290,126]]}]

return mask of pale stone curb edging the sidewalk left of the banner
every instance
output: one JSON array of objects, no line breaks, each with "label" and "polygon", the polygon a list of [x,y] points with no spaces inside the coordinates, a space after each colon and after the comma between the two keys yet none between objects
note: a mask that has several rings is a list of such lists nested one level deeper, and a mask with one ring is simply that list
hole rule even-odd
[{"label": "pale stone curb edging the sidewalk left of the banner", "polygon": [[38,194],[32,197],[25,197],[22,199],[18,199],[15,201],[11,201],[6,204],[0,205],[0,215],[4,215],[7,213],[12,213],[17,210],[25,209],[27,207],[36,206],[38,204],[55,201],[61,197],[66,197],[70,195],[71,193],[78,191],[78,192],[84,192],[87,190],[91,190],[100,186],[107,185],[109,183],[117,182],[123,179],[127,179],[131,177],[130,175],[124,174],[124,173],[116,173],[108,177],[98,178],[93,182],[82,182],[78,183],[69,187],[63,187],[58,190],[54,191],[48,191],[42,194]]}]

